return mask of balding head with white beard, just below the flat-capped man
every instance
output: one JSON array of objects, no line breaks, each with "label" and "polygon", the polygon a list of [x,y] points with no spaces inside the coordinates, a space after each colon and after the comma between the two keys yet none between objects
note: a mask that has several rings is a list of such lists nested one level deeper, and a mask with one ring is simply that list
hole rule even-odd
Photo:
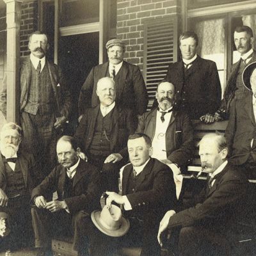
[{"label": "balding head with white beard, just below the flat-capped man", "polygon": [[113,79],[111,77],[100,78],[97,83],[96,93],[102,106],[110,106],[116,99],[115,82]]}]

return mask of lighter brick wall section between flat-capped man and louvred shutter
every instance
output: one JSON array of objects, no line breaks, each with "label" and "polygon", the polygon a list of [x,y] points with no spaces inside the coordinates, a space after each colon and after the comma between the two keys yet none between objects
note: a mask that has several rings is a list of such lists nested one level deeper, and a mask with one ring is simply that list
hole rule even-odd
[{"label": "lighter brick wall section between flat-capped man and louvred shutter", "polygon": [[126,46],[125,60],[143,69],[143,29],[147,19],[180,13],[181,0],[117,0],[117,38]]}]

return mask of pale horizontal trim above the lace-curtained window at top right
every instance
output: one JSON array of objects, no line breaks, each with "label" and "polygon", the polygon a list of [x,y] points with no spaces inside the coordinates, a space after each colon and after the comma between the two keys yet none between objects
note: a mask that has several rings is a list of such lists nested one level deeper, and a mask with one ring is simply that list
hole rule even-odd
[{"label": "pale horizontal trim above the lace-curtained window at top right", "polygon": [[238,3],[230,4],[220,4],[216,6],[188,10],[188,18],[202,17],[206,15],[221,14],[227,12],[241,12],[243,10],[251,10],[253,8],[256,8],[255,0],[241,1]]}]

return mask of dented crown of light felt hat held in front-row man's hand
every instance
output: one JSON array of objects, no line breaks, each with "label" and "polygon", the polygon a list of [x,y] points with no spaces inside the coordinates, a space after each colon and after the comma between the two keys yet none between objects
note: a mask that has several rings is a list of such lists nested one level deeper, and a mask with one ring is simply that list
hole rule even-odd
[{"label": "dented crown of light felt hat held in front-row man's hand", "polygon": [[122,212],[116,205],[111,205],[111,208],[105,205],[100,212],[100,223],[109,230],[118,230],[121,226]]}]

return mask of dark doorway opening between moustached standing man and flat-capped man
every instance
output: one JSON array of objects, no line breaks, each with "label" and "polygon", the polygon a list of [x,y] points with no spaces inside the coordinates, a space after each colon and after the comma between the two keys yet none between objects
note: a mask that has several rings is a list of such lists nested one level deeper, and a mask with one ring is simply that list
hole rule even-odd
[{"label": "dark doorway opening between moustached standing man and flat-capped man", "polygon": [[60,38],[58,60],[70,88],[72,110],[68,133],[77,125],[79,92],[90,70],[99,64],[99,32]]}]

